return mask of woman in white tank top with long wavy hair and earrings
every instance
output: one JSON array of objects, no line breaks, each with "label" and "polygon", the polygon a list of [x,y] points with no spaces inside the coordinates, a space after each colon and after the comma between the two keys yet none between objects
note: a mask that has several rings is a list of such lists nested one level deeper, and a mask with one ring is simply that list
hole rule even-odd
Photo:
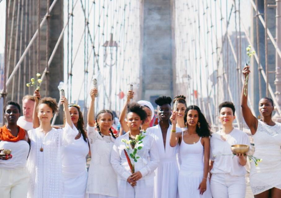
[{"label": "woman in white tank top with long wavy hair and earrings", "polygon": [[198,106],[185,110],[184,121],[187,130],[176,133],[177,112],[171,116],[172,132],[170,145],[180,143],[181,166],[178,175],[180,198],[211,198],[209,171],[209,149],[211,135],[209,124]]}]

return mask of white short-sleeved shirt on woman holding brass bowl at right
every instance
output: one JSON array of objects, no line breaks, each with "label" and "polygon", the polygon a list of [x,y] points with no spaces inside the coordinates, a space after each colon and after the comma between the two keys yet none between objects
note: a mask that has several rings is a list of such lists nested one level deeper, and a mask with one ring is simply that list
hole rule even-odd
[{"label": "white short-sleeved shirt on woman holding brass bowl at right", "polygon": [[222,155],[232,154],[231,145],[234,144],[250,146],[248,135],[236,128],[227,135],[226,140],[222,140],[220,131],[212,134],[210,139],[210,159],[214,161],[210,171],[212,174],[230,174],[231,176],[244,176],[246,174],[245,167],[239,164],[237,156]]}]

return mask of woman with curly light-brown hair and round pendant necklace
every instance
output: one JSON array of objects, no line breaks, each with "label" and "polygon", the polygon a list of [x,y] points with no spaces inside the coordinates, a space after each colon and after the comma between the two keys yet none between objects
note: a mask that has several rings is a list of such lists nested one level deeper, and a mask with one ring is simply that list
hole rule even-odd
[{"label": "woman with curly light-brown hair and round pendant necklace", "polygon": [[64,179],[62,174],[62,148],[74,141],[78,131],[72,129],[68,101],[60,98],[66,118],[63,129],[51,127],[51,119],[58,111],[54,98],[45,97],[38,101],[35,97],[33,115],[38,116],[40,126],[28,131],[31,141],[27,161],[29,171],[28,198],[62,198]]}]

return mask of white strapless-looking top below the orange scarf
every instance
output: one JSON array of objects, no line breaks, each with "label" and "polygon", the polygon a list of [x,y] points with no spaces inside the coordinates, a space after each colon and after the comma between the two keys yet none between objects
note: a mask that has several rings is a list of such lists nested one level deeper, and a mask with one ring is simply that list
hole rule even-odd
[{"label": "white strapless-looking top below the orange scarf", "polygon": [[18,169],[26,166],[29,144],[25,140],[17,142],[0,141],[0,149],[12,150],[9,160],[0,160],[0,169]]}]

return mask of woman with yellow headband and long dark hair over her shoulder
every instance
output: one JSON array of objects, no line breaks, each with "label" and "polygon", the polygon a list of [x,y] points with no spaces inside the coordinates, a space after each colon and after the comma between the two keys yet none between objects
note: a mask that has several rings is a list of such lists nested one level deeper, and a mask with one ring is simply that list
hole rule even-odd
[{"label": "woman with yellow headband and long dark hair over her shoulder", "polygon": [[[41,97],[39,91],[34,92],[34,97]],[[71,121],[78,133],[72,144],[65,144],[62,147],[63,198],[84,198],[88,178],[86,169],[86,156],[89,153],[88,140],[80,107],[76,104],[69,104],[68,109]],[[38,117],[33,119],[33,127],[39,127]]]}]

